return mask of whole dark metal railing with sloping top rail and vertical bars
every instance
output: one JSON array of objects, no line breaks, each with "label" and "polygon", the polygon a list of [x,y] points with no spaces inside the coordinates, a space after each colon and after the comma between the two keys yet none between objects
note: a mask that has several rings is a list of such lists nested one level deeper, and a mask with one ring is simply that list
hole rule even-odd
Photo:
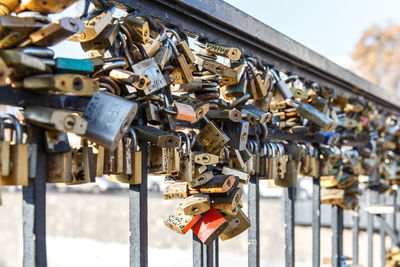
[{"label": "whole dark metal railing with sloping top rail and vertical bars", "polygon": [[[335,88],[339,91],[362,95],[385,109],[398,113],[400,99],[398,96],[385,93],[377,86],[363,80],[353,73],[339,67],[328,59],[296,43],[260,21],[241,12],[220,0],[118,0],[118,7],[137,10],[139,14],[152,16],[178,25],[182,30],[197,36],[206,36],[208,41],[218,41],[221,45],[238,47],[243,54],[255,57],[287,73],[307,77],[321,86]],[[35,103],[37,96],[27,92],[15,92],[10,87],[2,88],[0,103],[24,106]],[[79,101],[77,101],[79,100]],[[83,110],[87,103],[81,98],[70,96],[40,95],[42,105],[70,110]],[[46,262],[46,160],[42,145],[43,132],[36,129],[35,139],[31,144],[37,145],[36,177],[30,179],[29,186],[23,189],[23,239],[25,267],[47,266]],[[147,144],[140,144],[146,155]],[[295,265],[295,190],[284,189],[284,223],[285,223],[285,265]],[[312,263],[321,265],[321,204],[320,183],[314,179],[312,196]],[[369,190],[371,203],[378,203],[377,192]],[[248,230],[248,266],[260,266],[260,192],[259,180],[251,176],[248,191],[248,217],[251,227]],[[391,204],[396,205],[397,194],[393,193]],[[147,157],[142,161],[142,184],[131,185],[129,189],[129,234],[130,266],[148,266],[148,210],[147,210]],[[380,224],[382,252],[385,249],[385,236],[398,244],[396,215],[368,215],[368,266],[372,266],[374,251],[372,237],[374,233],[374,216]],[[358,264],[359,249],[359,216],[352,216],[353,264]],[[387,223],[390,221],[390,223]],[[343,210],[332,206],[332,266],[342,266],[343,251]],[[218,240],[205,246],[193,235],[193,266],[218,267]],[[382,257],[384,264],[384,253]]]}]

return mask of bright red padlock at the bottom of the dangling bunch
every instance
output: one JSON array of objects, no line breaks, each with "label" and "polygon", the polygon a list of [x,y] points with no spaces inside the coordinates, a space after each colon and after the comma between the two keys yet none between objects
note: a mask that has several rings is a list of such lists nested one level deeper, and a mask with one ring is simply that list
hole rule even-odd
[{"label": "bright red padlock at the bottom of the dangling bunch", "polygon": [[193,226],[192,230],[204,245],[209,245],[227,226],[227,220],[214,207],[211,207],[203,213],[203,217]]}]

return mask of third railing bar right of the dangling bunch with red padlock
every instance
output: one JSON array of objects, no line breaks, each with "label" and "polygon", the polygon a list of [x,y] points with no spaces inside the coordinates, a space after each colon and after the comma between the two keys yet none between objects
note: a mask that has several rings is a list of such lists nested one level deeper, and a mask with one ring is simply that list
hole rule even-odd
[{"label": "third railing bar right of the dangling bunch with red padlock", "polygon": [[313,179],[312,197],[313,266],[320,266],[321,253],[321,186],[320,178]]}]

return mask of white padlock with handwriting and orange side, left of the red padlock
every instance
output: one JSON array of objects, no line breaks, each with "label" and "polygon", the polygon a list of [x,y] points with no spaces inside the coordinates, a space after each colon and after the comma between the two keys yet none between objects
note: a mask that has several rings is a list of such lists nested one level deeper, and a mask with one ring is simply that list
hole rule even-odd
[{"label": "white padlock with handwriting and orange side, left of the red padlock", "polygon": [[174,213],[169,215],[168,219],[164,221],[164,224],[177,232],[178,234],[186,234],[199,220],[201,215],[186,215],[183,211],[182,203],[178,205]]}]

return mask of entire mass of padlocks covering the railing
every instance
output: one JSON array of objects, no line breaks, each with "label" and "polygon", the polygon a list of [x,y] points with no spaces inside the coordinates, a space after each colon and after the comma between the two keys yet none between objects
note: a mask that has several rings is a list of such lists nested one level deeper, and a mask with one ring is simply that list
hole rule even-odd
[{"label": "entire mass of padlocks covering the railing", "polygon": [[[165,224],[181,234],[192,229],[209,244],[250,227],[241,196],[251,175],[279,187],[321,177],[322,203],[344,209],[358,204],[360,175],[375,177],[368,186],[379,189],[399,183],[397,117],[371,102],[138,12],[117,17],[106,1],[51,22],[48,13],[74,1],[53,2],[0,4],[0,83],[79,96],[86,106],[83,114],[25,106],[23,127],[0,116],[15,132],[1,142],[1,185],[34,177],[34,149],[23,132],[29,143],[36,125],[45,129],[47,182],[88,183],[105,174],[140,184],[147,167],[171,184],[164,199],[182,199]],[[49,46],[68,38],[89,58],[54,58]],[[81,145],[71,148],[67,133],[81,136]]]}]

